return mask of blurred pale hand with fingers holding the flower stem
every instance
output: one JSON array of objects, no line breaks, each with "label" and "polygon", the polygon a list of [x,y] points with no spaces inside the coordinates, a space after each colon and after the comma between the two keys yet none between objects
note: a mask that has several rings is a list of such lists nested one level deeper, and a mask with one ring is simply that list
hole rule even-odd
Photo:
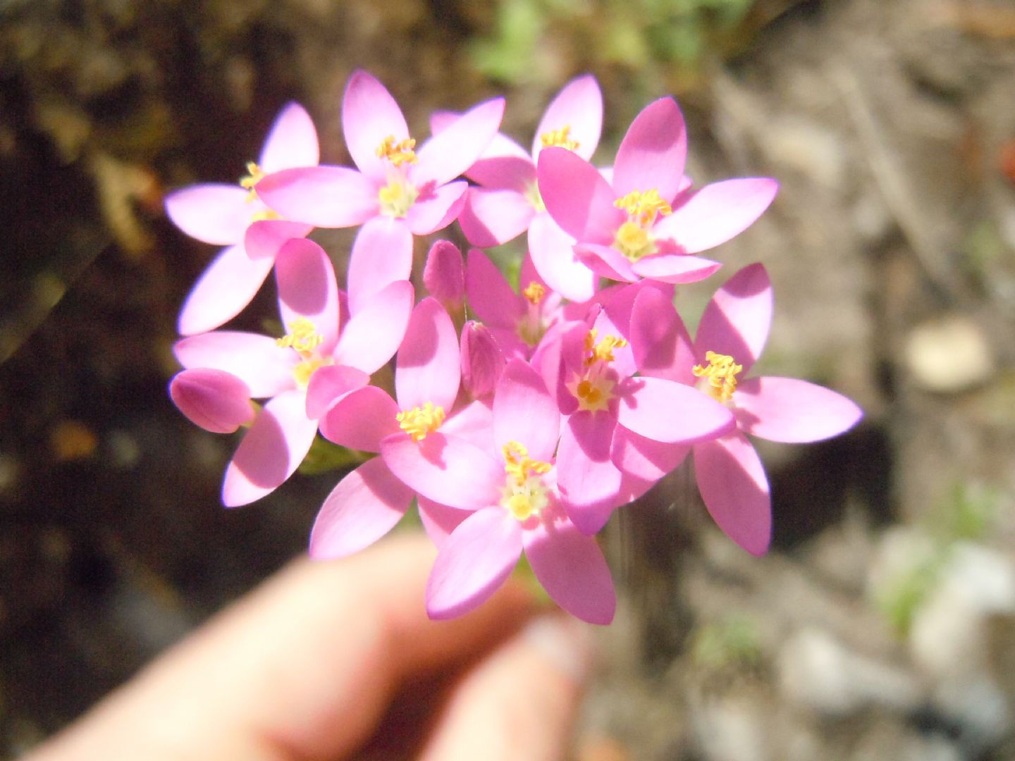
[{"label": "blurred pale hand with fingers holding the flower stem", "polygon": [[511,583],[429,621],[433,556],[293,561],[25,761],[561,758],[588,631]]}]

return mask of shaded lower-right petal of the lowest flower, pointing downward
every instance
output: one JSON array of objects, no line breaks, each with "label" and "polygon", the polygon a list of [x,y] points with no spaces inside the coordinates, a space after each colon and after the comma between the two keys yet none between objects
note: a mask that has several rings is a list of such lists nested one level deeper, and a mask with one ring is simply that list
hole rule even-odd
[{"label": "shaded lower-right petal of the lowest flower, pointing downward", "polygon": [[613,579],[594,537],[565,520],[549,527],[541,523],[523,532],[522,541],[533,573],[557,605],[591,624],[613,620]]}]

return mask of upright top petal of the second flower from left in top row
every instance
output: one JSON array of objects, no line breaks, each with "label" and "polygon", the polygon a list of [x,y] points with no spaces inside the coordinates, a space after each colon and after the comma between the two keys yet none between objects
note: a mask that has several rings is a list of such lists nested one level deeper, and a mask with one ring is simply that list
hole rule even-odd
[{"label": "upright top petal of the second flower from left in top row", "polygon": [[409,137],[402,110],[381,82],[365,71],[356,70],[349,77],[342,97],[342,132],[345,146],[359,170],[383,181],[387,161],[377,149],[388,136],[395,142]]}]

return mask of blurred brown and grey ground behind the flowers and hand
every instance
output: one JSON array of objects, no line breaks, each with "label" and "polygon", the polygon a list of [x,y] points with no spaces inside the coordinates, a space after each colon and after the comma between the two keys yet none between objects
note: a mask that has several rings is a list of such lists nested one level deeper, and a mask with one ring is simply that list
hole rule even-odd
[{"label": "blurred brown and grey ground behind the flowers and hand", "polygon": [[[356,67],[417,135],[502,93],[523,144],[592,72],[605,160],[675,94],[695,181],[782,183],[682,291],[686,319],[764,262],[759,369],[867,412],[761,447],[764,558],[712,525],[687,466],[611,522],[621,602],[574,758],[1015,758],[1010,0],[0,0],[0,755],[304,549],[340,474],[227,511],[235,439],[168,401],[215,250],[162,198],[236,182],[289,99],[347,163]],[[316,237],[341,264],[350,236]]]}]

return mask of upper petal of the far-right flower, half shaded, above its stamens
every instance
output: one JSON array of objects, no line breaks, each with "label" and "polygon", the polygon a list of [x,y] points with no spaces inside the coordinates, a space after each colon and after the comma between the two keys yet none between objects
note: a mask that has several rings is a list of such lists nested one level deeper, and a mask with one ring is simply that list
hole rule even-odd
[{"label": "upper petal of the far-right flower, half shaded, above its stamens", "polygon": [[694,339],[698,361],[704,361],[705,352],[715,351],[732,356],[744,373],[750,372],[768,338],[771,313],[771,281],[764,266],[744,267],[704,307]]}]

